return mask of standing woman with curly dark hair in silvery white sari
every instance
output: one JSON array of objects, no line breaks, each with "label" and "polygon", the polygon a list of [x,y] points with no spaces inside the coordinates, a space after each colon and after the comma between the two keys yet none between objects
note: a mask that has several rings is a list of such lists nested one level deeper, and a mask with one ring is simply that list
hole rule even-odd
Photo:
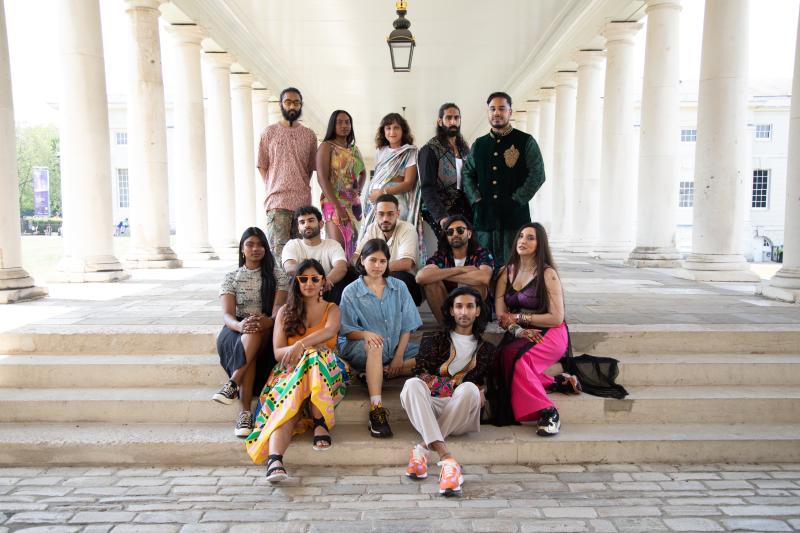
[{"label": "standing woman with curly dark hair in silvery white sari", "polygon": [[375,135],[375,175],[362,192],[364,225],[375,220],[375,201],[391,194],[400,202],[400,219],[419,227],[421,193],[417,179],[417,147],[408,122],[398,113],[389,113]]}]

